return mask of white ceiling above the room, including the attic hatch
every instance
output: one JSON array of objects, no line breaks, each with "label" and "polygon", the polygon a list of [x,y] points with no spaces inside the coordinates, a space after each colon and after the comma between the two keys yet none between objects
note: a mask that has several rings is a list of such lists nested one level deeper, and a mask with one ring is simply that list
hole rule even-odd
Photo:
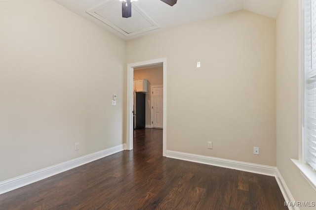
[{"label": "white ceiling above the room, including the attic hatch", "polygon": [[[282,2],[282,0],[178,0],[171,7],[160,0],[138,0],[132,2],[132,17],[125,19],[121,17],[119,0],[55,1],[123,39],[139,37],[241,9],[276,18]],[[139,19],[141,17],[145,19]],[[145,30],[139,25],[141,21],[144,27],[147,27]]]}]

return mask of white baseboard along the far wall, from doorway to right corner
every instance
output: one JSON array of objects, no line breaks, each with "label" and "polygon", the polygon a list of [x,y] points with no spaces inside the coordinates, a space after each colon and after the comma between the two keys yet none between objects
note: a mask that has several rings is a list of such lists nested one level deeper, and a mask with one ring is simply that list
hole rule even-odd
[{"label": "white baseboard along the far wall, from doorway to right corner", "polygon": [[276,176],[276,167],[273,167],[273,166],[259,165],[259,164],[254,164],[254,163],[247,163],[247,162],[228,160],[228,159],[222,159],[222,158],[217,158],[217,157],[209,157],[209,156],[190,154],[190,153],[171,151],[171,150],[167,150],[166,156],[175,158],[175,159],[196,162],[196,163],[203,163],[207,165],[236,169],[239,171],[246,171],[246,172],[263,174],[263,175],[268,175],[268,176],[273,176],[273,177]]}]

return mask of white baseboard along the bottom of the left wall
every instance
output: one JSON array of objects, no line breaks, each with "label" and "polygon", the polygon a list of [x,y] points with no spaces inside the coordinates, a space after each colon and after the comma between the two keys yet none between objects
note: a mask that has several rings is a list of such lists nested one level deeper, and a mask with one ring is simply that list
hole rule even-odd
[{"label": "white baseboard along the bottom of the left wall", "polygon": [[[126,145],[125,145],[126,147]],[[118,145],[116,147],[112,147],[106,150],[94,152],[92,154],[88,154],[73,160],[69,160],[54,166],[50,166],[44,169],[40,169],[35,172],[31,172],[29,174],[25,174],[10,180],[4,180],[0,182],[0,194],[5,192],[23,187],[25,185],[34,183],[39,180],[46,179],[48,177],[54,176],[56,174],[62,173],[64,171],[68,171],[70,169],[76,168],[83,164],[92,162],[94,160],[109,156],[111,154],[117,153],[124,149],[124,145]]]}]

